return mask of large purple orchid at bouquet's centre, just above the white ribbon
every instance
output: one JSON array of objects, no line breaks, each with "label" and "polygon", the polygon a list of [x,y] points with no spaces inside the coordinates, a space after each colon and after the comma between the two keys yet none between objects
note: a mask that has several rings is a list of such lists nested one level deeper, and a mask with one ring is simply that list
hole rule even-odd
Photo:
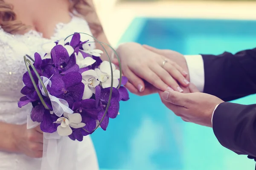
[{"label": "large purple orchid at bouquet's centre, just above the white ribbon", "polygon": [[66,100],[72,108],[74,102],[82,99],[84,84],[81,81],[79,72],[69,72],[64,76],[54,74],[51,78],[52,86],[47,89],[52,96]]}]

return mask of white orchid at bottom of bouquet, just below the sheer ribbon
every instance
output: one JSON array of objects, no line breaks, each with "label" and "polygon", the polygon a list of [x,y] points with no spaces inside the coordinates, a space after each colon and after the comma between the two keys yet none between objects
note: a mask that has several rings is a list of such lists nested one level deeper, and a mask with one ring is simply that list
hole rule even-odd
[{"label": "white orchid at bottom of bouquet, just below the sheer ribbon", "polygon": [[61,124],[57,127],[57,132],[60,136],[69,136],[72,134],[72,128],[81,128],[85,126],[85,123],[82,123],[82,117],[79,113],[68,114],[64,113],[64,117],[57,119],[55,123]]}]

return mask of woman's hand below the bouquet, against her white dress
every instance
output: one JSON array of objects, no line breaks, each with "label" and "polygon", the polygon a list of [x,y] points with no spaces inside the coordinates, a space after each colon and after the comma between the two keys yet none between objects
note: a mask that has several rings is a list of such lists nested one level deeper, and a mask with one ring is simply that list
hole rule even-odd
[{"label": "woman's hand below the bouquet, against her white dress", "polygon": [[27,129],[25,125],[17,125],[14,130],[15,145],[19,153],[32,158],[41,158],[43,155],[43,132],[40,126]]}]

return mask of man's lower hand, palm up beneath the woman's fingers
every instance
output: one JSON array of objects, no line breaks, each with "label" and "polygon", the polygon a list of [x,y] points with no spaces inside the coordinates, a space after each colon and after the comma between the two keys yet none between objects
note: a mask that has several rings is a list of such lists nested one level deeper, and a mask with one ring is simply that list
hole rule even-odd
[{"label": "man's lower hand, palm up beneath the woman's fingers", "polygon": [[216,105],[224,102],[204,93],[183,94],[176,91],[160,92],[164,105],[185,122],[212,127],[212,113]]}]

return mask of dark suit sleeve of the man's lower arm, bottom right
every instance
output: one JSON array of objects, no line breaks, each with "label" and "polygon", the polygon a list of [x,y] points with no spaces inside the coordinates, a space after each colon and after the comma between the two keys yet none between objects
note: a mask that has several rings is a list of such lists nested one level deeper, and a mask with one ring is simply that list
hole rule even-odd
[{"label": "dark suit sleeve of the man's lower arm, bottom right", "polygon": [[212,128],[224,147],[256,157],[256,105],[221,103],[214,112]]}]

